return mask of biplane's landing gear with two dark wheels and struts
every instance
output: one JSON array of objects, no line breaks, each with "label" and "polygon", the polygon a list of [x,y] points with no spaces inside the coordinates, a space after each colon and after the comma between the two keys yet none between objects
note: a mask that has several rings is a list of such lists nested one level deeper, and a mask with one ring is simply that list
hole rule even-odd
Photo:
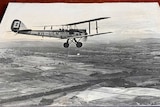
[{"label": "biplane's landing gear with two dark wheels and struts", "polygon": [[68,48],[69,47],[69,41],[70,41],[70,43],[75,43],[76,44],[76,47],[77,48],[80,48],[80,47],[82,47],[82,42],[79,42],[79,41],[77,41],[75,38],[74,39],[67,39],[67,42],[65,42],[64,44],[63,44],[63,46],[65,47],[65,48]]}]

